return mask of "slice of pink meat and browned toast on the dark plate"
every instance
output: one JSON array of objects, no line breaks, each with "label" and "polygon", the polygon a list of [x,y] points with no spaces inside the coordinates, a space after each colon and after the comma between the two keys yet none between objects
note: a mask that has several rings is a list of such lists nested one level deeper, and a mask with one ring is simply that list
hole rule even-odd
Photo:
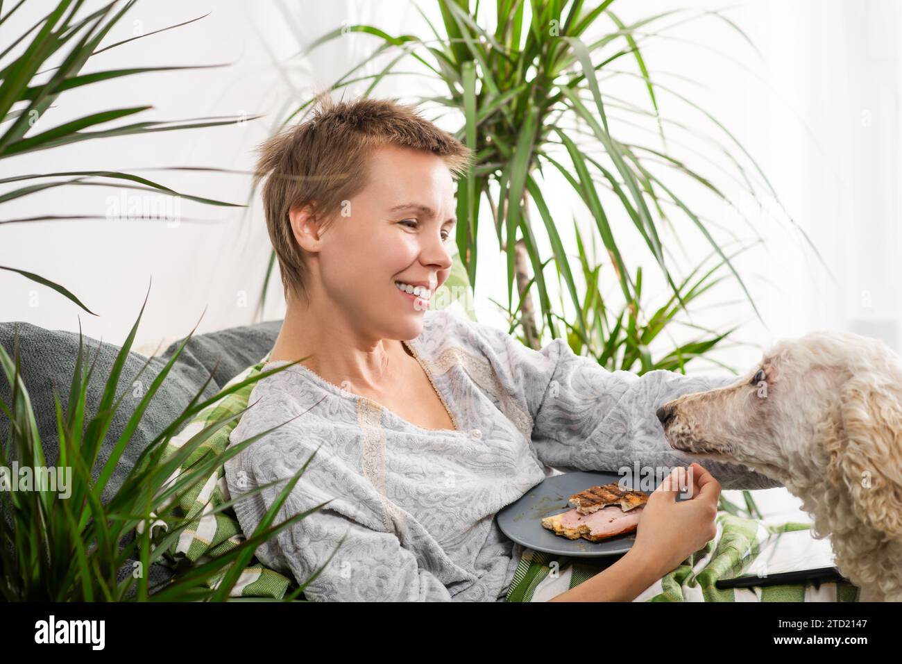
[{"label": "slice of pink meat and browned toast on the dark plate", "polygon": [[542,526],[567,539],[597,542],[633,532],[648,500],[644,491],[623,490],[617,482],[594,486],[570,496],[574,509],[542,519]]}]

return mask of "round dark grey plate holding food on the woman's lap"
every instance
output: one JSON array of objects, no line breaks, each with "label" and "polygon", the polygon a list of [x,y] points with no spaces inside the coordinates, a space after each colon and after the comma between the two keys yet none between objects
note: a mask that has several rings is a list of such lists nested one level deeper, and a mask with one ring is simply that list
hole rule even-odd
[{"label": "round dark grey plate holding food on the woman's lap", "polygon": [[530,489],[525,496],[498,512],[498,527],[515,542],[535,551],[558,556],[618,556],[630,550],[636,533],[615,535],[600,542],[588,539],[567,539],[542,528],[542,519],[560,514],[573,507],[570,496],[598,484],[618,482],[616,472],[565,472],[546,478]]}]

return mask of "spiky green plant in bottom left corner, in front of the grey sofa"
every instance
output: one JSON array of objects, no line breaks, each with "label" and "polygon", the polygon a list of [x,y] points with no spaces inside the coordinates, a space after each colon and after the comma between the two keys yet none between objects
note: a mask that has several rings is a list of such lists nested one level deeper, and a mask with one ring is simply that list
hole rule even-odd
[{"label": "spiky green plant in bottom left corner, in front of the grey sofa", "polygon": [[[144,303],[146,304],[146,298]],[[0,597],[7,602],[222,601],[235,587],[241,573],[252,560],[256,547],[283,528],[288,528],[322,507],[318,505],[273,525],[282,503],[310,463],[308,460],[290,480],[278,481],[286,482],[285,486],[259,527],[243,543],[209,560],[198,561],[197,565],[177,567],[175,575],[164,585],[150,585],[146,571],[152,563],[162,561],[172,543],[192,523],[192,519],[186,518],[163,534],[152,533],[155,515],[161,513],[173,496],[198,482],[205,482],[228,459],[281,425],[230,446],[222,454],[201,463],[185,461],[216,431],[240,419],[247,408],[208,422],[178,452],[164,454],[170,440],[182,426],[221,397],[291,365],[261,371],[220,390],[214,397],[204,399],[202,396],[212,379],[211,373],[179,417],[145,447],[113,497],[104,502],[101,496],[125,446],[129,444],[135,429],[141,423],[144,411],[191,338],[189,334],[179,344],[170,360],[152,379],[150,387],[134,407],[122,434],[115,441],[109,458],[100,464],[98,456],[101,445],[125,393],[130,393],[129,390],[124,390],[120,397],[115,397],[124,362],[140,321],[141,314],[116,355],[95,413],[86,412],[87,385],[94,363],[88,366],[89,358],[87,355],[83,356],[79,333],[78,358],[68,398],[60,400],[60,395],[54,388],[60,450],[55,461],[46,458],[41,444],[37,418],[21,376],[18,337],[14,340],[12,357],[0,346],[0,368],[9,382],[12,395],[10,403],[0,401],[0,412],[10,423],[9,439],[0,445],[0,467],[49,468],[49,464],[55,463],[53,467],[69,468],[71,472],[69,486],[63,495],[60,495],[59,487],[52,486],[51,482],[41,486],[39,482],[33,482],[25,491],[0,491]],[[191,333],[193,332],[192,330]],[[97,352],[99,353],[99,349]],[[135,379],[143,375],[149,363],[150,359]],[[312,459],[313,456],[310,457]],[[277,482],[272,484],[275,483]],[[228,510],[235,501],[244,500],[272,484],[247,491],[239,498],[217,505],[209,514],[212,516]],[[119,573],[129,560],[140,562],[145,573],[125,575],[120,581]],[[299,585],[284,599],[294,599],[305,585]]]}]

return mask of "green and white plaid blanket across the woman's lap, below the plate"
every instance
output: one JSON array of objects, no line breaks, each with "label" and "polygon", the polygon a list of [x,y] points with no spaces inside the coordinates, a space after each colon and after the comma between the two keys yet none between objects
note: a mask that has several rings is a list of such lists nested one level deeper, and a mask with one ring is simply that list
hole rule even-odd
[{"label": "green and white plaid blanket across the woman's lap, below the plate", "polygon": [[[717,535],[675,570],[650,585],[633,602],[858,602],[860,589],[848,583],[769,585],[720,590],[714,582],[740,574],[771,533],[811,528],[807,523],[768,525],[728,512],[717,515]],[[601,572],[585,558],[526,549],[511,581],[507,602],[546,602]]]}]

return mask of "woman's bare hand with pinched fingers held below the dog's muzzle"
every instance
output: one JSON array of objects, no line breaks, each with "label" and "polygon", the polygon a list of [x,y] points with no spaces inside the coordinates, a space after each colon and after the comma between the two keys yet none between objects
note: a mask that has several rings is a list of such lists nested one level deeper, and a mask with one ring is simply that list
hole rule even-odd
[{"label": "woman's bare hand with pinched fingers held below the dog's muzzle", "polygon": [[[630,553],[647,565],[657,566],[658,577],[671,572],[717,534],[714,518],[720,482],[698,463],[692,463],[691,468],[691,473],[683,467],[674,468],[642,509]],[[687,482],[689,474],[691,483]],[[677,501],[677,494],[684,490],[689,500]]]}]

